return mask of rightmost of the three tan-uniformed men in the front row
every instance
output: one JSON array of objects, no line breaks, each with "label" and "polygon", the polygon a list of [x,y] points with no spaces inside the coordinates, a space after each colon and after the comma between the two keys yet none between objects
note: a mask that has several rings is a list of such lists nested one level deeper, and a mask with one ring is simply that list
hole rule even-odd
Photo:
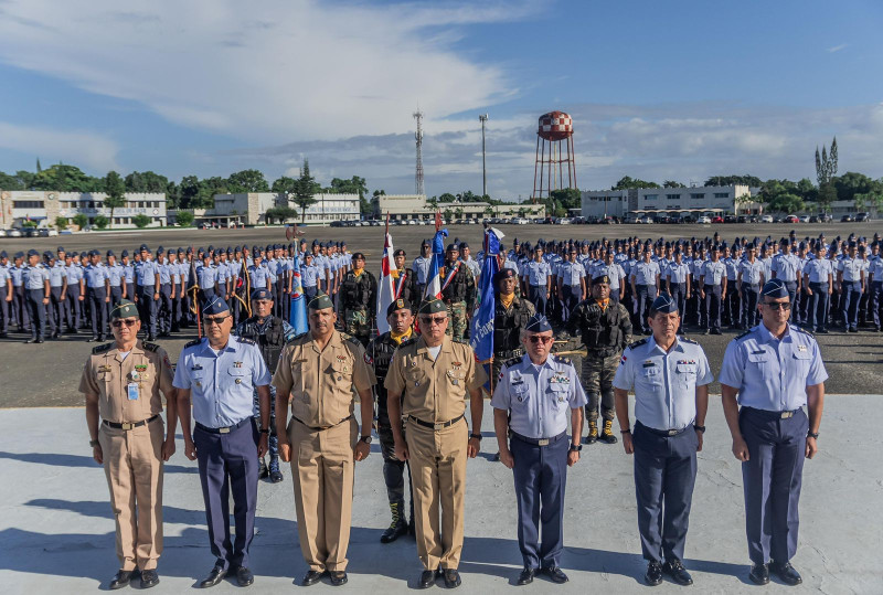
[{"label": "rightmost of the three tan-uniformed men in the front row", "polygon": [[[472,348],[445,334],[450,320],[444,301],[427,299],[418,314],[421,337],[404,341],[393,354],[384,382],[386,408],[395,455],[411,463],[417,553],[424,566],[418,586],[428,588],[444,571],[445,585],[454,588],[460,584],[466,459],[475,458],[481,446],[481,386],[488,378],[476,365]],[[472,434],[464,419],[467,393]]]}]

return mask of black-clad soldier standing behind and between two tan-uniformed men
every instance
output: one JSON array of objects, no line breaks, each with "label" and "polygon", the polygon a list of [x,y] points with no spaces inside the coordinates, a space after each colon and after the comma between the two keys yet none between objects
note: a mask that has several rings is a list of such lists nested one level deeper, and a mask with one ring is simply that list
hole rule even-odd
[{"label": "black-clad soldier standing behind and between two tan-uniformed men", "polygon": [[[390,414],[386,411],[386,387],[383,381],[390,370],[393,353],[396,348],[411,339],[414,325],[414,312],[411,302],[396,299],[386,308],[386,320],[390,331],[373,339],[365,351],[366,357],[374,364],[374,375],[377,383],[374,385],[377,396],[377,436],[383,455],[383,479],[386,482],[386,496],[390,499],[392,522],[380,538],[381,543],[391,543],[408,531],[414,532],[414,495],[411,496],[411,524],[405,512],[405,467],[407,463],[398,460],[395,456],[395,439],[390,424]],[[408,467],[408,485],[411,485],[411,468]]]}]

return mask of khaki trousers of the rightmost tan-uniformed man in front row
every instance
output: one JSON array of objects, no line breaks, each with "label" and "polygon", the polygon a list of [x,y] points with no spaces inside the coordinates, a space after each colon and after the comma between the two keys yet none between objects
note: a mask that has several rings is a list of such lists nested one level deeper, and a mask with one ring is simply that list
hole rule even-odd
[{"label": "khaki trousers of the rightmost tan-uniformed man in front row", "polygon": [[436,432],[408,422],[405,442],[411,456],[417,554],[426,570],[439,565],[456,570],[462,552],[469,426],[460,419]]}]

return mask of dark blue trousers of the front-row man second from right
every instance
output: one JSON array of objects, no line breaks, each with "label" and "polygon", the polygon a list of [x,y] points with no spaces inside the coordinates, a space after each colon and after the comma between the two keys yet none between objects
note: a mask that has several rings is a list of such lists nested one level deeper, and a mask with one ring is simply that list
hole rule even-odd
[{"label": "dark blue trousers of the front-row man second from right", "polygon": [[674,557],[683,560],[699,437],[692,427],[677,436],[662,436],[637,422],[632,443],[643,557],[659,563]]}]

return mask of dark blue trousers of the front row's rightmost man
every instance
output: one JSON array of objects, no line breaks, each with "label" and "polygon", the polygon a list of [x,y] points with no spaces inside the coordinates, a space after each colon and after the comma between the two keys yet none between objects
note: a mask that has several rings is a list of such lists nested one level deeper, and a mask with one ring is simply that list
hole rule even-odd
[{"label": "dark blue trousers of the front row's rightmost man", "polygon": [[748,557],[788,562],[797,553],[807,415],[798,410],[783,419],[778,412],[742,407],[738,426],[751,457],[742,464]]}]

